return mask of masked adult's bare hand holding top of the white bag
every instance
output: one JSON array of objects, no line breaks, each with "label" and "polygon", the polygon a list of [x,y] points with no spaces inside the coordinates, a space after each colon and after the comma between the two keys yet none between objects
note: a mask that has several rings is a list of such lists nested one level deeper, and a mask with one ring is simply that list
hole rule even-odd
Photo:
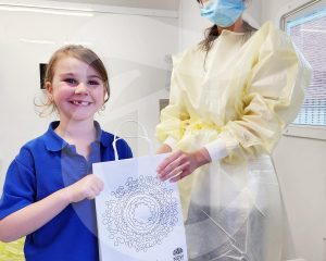
[{"label": "masked adult's bare hand holding top of the white bag", "polygon": [[177,182],[191,174],[196,169],[211,162],[211,157],[205,148],[193,153],[176,151],[167,157],[158,167],[161,181]]}]

